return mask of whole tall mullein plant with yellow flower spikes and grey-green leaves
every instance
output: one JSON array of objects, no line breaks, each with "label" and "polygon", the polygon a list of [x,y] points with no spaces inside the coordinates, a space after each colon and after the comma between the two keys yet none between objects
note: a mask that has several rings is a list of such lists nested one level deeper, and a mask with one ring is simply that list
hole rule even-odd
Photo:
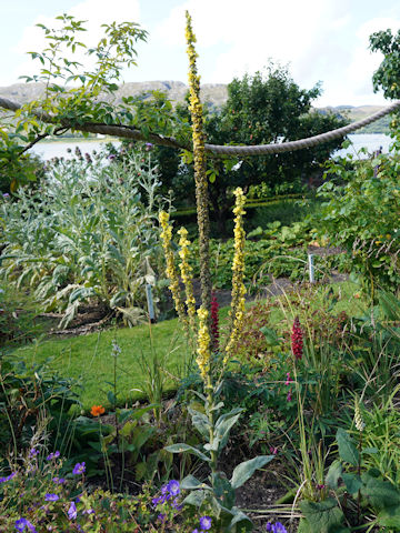
[{"label": "whole tall mullein plant with yellow flower spikes and grey-green leaves", "polygon": [[[219,401],[219,395],[222,389],[223,369],[229,362],[230,353],[237,341],[239,330],[243,320],[244,311],[244,231],[242,228],[242,215],[244,214],[244,194],[238,188],[236,194],[236,228],[234,228],[234,258],[233,258],[233,276],[232,276],[232,309],[231,309],[231,334],[227,343],[223,354],[222,372],[219,379],[216,380],[213,375],[212,363],[212,341],[210,333],[210,303],[211,303],[211,275],[209,264],[209,213],[208,213],[208,191],[206,178],[206,160],[203,153],[203,133],[202,133],[202,114],[201,104],[199,100],[200,82],[196,71],[196,51],[193,42],[196,42],[192,29],[191,19],[187,13],[187,40],[189,46],[190,59],[190,84],[191,84],[191,105],[193,123],[193,154],[196,169],[196,187],[198,201],[198,224],[200,235],[200,264],[201,264],[201,283],[202,283],[202,305],[198,311],[198,338],[197,338],[197,364],[200,370],[200,376],[203,382],[203,394],[197,393],[203,401],[204,409],[196,410],[188,408],[192,418],[194,428],[199,431],[206,443],[199,446],[191,446],[186,443],[178,443],[167,446],[166,450],[172,453],[188,452],[197,455],[204,461],[209,467],[208,482],[203,483],[197,480],[193,475],[188,475],[181,482],[181,487],[190,491],[183,503],[194,505],[201,513],[212,514],[217,520],[218,531],[251,531],[252,523],[244,513],[242,513],[234,505],[236,490],[246,483],[251,477],[257,469],[261,469],[273,459],[273,455],[261,455],[250,461],[244,461],[239,464],[232,473],[230,479],[224,472],[219,470],[218,457],[226,446],[229,434],[233,425],[239,420],[242,409],[234,408],[228,413],[219,414],[223,403]],[[161,224],[166,221],[166,215],[160,217]],[[163,235],[171,238],[171,232],[163,227]],[[187,259],[187,234],[180,230],[181,253],[180,258],[182,264]],[[170,250],[170,247],[168,247]],[[167,273],[177,274],[177,271],[168,268]],[[186,285],[188,285],[188,272],[181,265],[181,274]],[[170,280],[172,290],[177,289],[177,280]],[[187,308],[189,321],[193,323],[191,318],[191,298],[188,299],[187,290]],[[184,318],[183,324],[188,324],[188,319]]]}]

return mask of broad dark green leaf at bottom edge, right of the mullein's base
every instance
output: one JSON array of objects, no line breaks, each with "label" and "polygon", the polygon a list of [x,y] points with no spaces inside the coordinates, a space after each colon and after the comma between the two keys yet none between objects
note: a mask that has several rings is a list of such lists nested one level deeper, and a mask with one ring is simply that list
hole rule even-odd
[{"label": "broad dark green leaf at bottom edge, right of the mullein's base", "polygon": [[[343,521],[343,513],[333,497],[322,502],[300,502],[309,529],[302,531],[309,533],[338,533]],[[344,530],[346,531],[346,530]]]}]

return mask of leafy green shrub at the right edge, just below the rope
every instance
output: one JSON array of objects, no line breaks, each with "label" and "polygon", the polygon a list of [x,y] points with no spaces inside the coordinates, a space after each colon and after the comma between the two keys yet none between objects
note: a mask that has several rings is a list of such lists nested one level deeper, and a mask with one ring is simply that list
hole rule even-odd
[{"label": "leafy green shrub at the right edge, just below the rope", "polygon": [[[331,161],[328,181],[320,187],[321,209],[313,217],[317,233],[352,255],[352,269],[361,275],[374,300],[376,285],[393,290],[399,281],[399,143],[388,155],[356,162]],[[351,159],[351,157],[350,157]]]}]

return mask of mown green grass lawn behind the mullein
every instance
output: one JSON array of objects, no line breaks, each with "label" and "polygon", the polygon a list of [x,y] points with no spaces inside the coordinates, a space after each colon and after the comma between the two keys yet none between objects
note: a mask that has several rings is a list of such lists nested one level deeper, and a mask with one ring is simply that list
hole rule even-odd
[{"label": "mown green grass lawn behind the mullein", "polygon": [[[354,298],[358,288],[351,282],[336,283],[332,285],[340,299],[333,309],[333,314],[344,310],[349,315],[359,315],[363,312],[363,302]],[[327,285],[316,288],[312,306],[322,304]],[[286,300],[284,294],[280,296]],[[251,304],[250,304],[251,305]],[[229,308],[220,310],[221,324],[223,324]],[[287,313],[291,321],[296,309]],[[284,318],[280,309],[271,313],[272,326],[281,323]],[[282,326],[282,324],[281,324]],[[152,345],[148,324],[136,328],[117,328],[90,333],[71,339],[49,340],[36,342],[28,346],[19,348],[12,352],[11,358],[23,359],[27,364],[43,363],[49,360],[51,370],[60,372],[64,378],[80,379],[82,389],[78,390],[83,409],[90,410],[93,404],[109,405],[107,392],[112,389],[113,363],[112,341],[116,340],[121,349],[117,360],[117,386],[120,404],[142,399],[144,394],[132,389],[143,389],[149,373],[141,365],[143,359],[148,362],[158,358],[162,368],[167,369],[166,390],[174,390],[178,380],[184,375],[189,361],[189,351],[184,336],[177,319],[151,325]],[[166,364],[163,364],[163,360]],[[108,383],[107,383],[108,382]]]}]

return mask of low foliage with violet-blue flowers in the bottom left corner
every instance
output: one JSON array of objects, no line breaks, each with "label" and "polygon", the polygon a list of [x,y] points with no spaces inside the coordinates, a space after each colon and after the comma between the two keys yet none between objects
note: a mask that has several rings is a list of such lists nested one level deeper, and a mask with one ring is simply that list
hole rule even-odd
[{"label": "low foliage with violet-blue flowers in the bottom left corner", "polygon": [[[97,533],[183,533],[198,516],[181,512],[180,496],[154,509],[154,491],[143,484],[136,495],[111,493],[101,487],[88,490],[83,473],[62,455],[46,457],[46,447],[28,449],[11,463],[11,475],[0,484],[0,527],[2,531],[82,531]],[[82,465],[82,463],[79,463]],[[4,472],[2,472],[4,473]],[[23,497],[21,497],[23,495]],[[160,520],[160,511],[164,515]],[[22,519],[22,520],[21,520]],[[24,521],[24,522],[23,522]]]}]

